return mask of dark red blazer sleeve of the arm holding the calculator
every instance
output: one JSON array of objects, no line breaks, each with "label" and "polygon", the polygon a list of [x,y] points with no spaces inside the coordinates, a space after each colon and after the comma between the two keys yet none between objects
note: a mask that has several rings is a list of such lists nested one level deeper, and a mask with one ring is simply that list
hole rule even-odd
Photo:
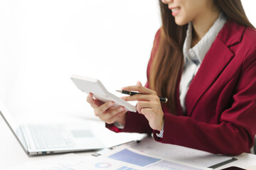
[{"label": "dark red blazer sleeve of the arm holding the calculator", "polygon": [[[149,59],[149,63],[146,71],[146,75],[148,79],[149,79],[151,62],[153,62],[153,58],[156,55],[156,50],[159,45],[159,39],[160,39],[160,29],[156,32],[156,35],[154,38],[154,45],[151,50],[151,57]],[[149,88],[148,82],[146,82],[145,86]],[[151,134],[153,132],[149,126],[148,120],[146,120],[144,115],[139,114],[138,112],[133,113],[129,111],[126,114],[127,115],[126,115],[124,129],[118,129],[114,126],[114,124],[107,124],[107,123],[106,123],[106,128],[114,132],[138,132],[138,133],[147,133],[147,134]]]}]

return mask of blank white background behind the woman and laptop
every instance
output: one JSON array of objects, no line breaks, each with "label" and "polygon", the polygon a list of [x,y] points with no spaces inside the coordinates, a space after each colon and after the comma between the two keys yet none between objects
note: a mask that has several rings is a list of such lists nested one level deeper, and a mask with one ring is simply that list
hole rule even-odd
[{"label": "blank white background behind the woman and laptop", "polygon": [[[254,0],[242,1],[254,26]],[[72,74],[146,83],[156,0],[0,0],[0,98],[14,115],[93,116]]]}]

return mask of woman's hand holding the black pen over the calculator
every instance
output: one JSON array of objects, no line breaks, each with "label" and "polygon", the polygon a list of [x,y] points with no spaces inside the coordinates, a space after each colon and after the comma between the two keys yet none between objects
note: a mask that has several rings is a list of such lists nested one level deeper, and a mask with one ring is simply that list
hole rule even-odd
[{"label": "woman's hand holding the black pen over the calculator", "polygon": [[156,91],[142,86],[140,81],[137,82],[136,86],[127,86],[122,88],[122,90],[142,93],[122,98],[124,101],[138,101],[137,111],[146,117],[152,129],[161,131],[164,124],[164,113]]}]

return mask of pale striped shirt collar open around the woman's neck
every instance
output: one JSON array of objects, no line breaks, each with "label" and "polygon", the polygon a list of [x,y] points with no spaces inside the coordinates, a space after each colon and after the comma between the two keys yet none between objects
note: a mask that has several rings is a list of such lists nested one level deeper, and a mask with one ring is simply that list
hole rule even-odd
[{"label": "pale striped shirt collar open around the woman's neck", "polygon": [[210,46],[213,44],[215,38],[217,37],[220,30],[225,25],[227,17],[224,13],[220,13],[218,19],[213,23],[213,26],[210,27],[206,35],[194,46],[191,48],[192,41],[192,28],[193,24],[188,23],[188,30],[186,31],[186,39],[183,45],[183,56],[184,60],[190,60],[195,64],[201,64],[203,58],[206,56],[206,53],[210,49]]}]

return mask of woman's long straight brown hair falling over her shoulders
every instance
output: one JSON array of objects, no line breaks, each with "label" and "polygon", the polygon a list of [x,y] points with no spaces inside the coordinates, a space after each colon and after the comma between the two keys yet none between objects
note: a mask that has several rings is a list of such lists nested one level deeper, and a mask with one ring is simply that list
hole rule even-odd
[{"label": "woman's long straight brown hair falling over her shoulders", "polygon": [[[254,28],[242,7],[240,0],[216,0],[215,3],[230,20]],[[168,5],[159,0],[161,11],[161,35],[156,56],[151,65],[149,85],[159,96],[169,98],[167,106],[171,113],[176,111],[176,88],[183,67],[183,43],[186,38],[185,26],[178,26],[171,16]]]}]

